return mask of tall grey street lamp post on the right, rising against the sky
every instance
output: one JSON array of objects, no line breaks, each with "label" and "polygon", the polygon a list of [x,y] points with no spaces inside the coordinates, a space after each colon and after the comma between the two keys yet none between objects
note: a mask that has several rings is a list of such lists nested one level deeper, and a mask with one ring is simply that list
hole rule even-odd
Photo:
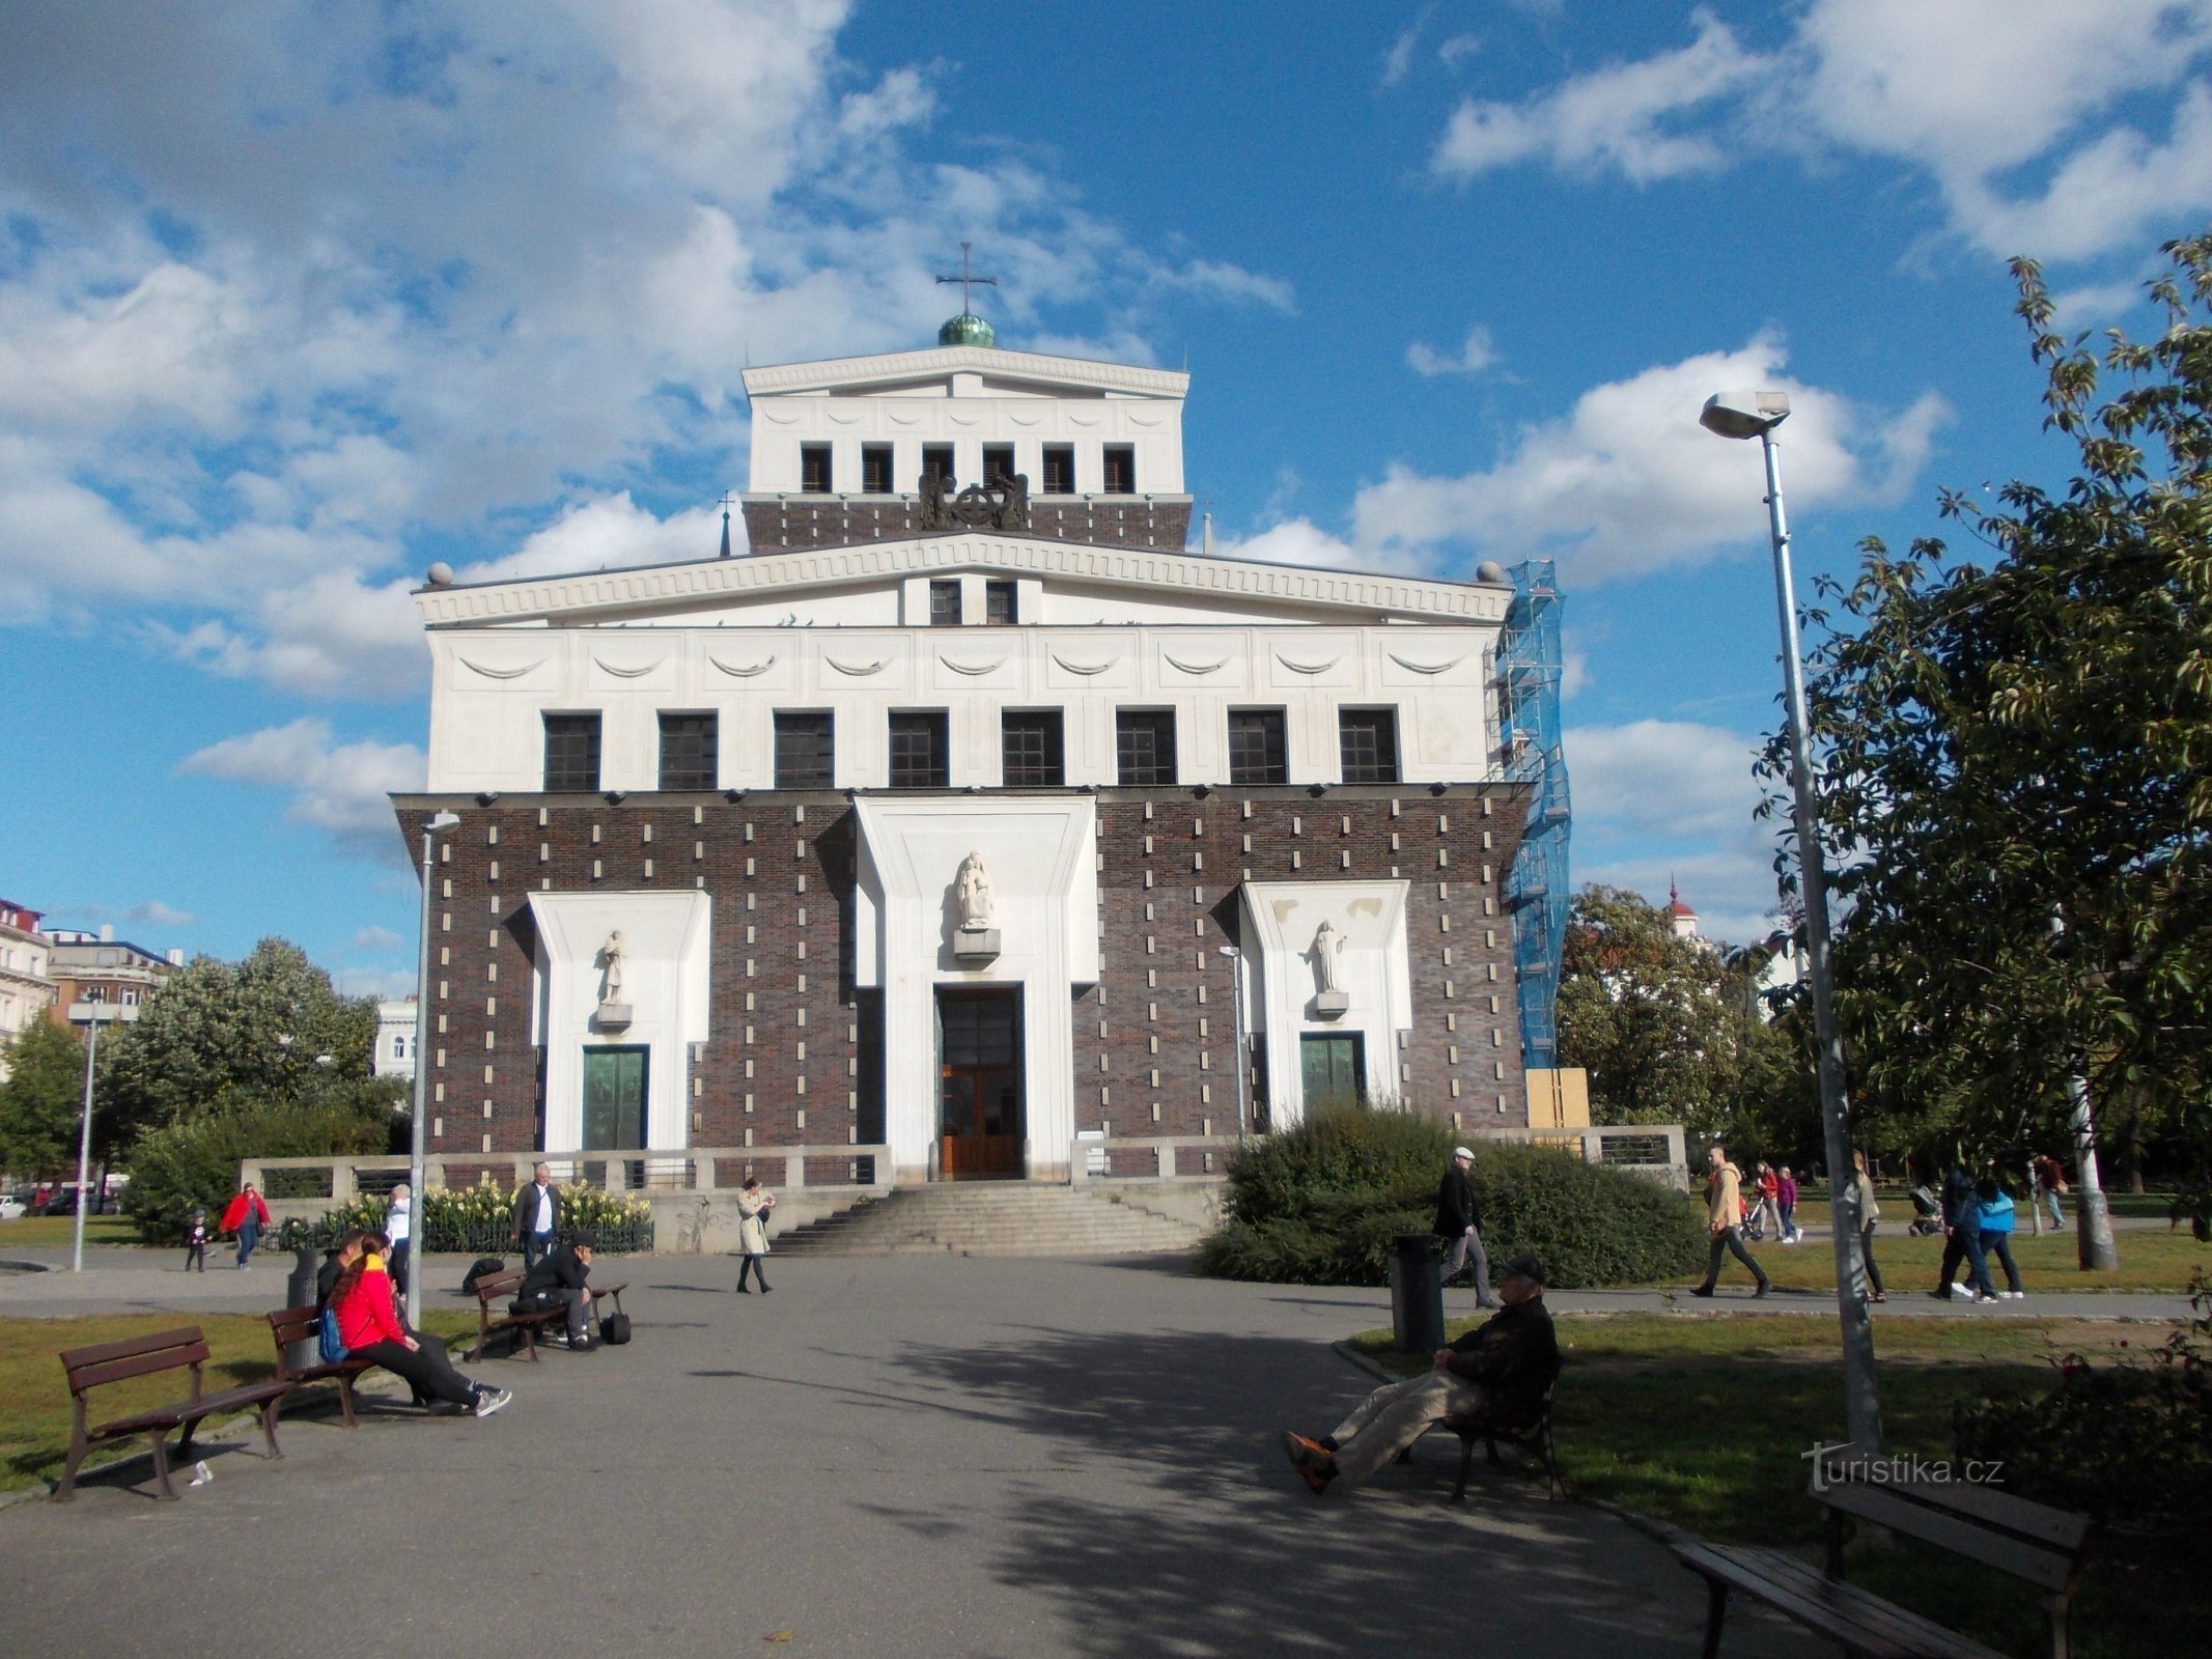
[{"label": "tall grey street lamp post on the right, rising against the sky", "polygon": [[1721,438],[1759,438],[1767,460],[1767,520],[1774,538],[1774,599],[1783,628],[1783,701],[1790,712],[1790,790],[1796,796],[1798,887],[1805,896],[1805,973],[1820,1068],[1820,1124],[1827,1130],[1829,1232],[1836,1243],[1836,1316],[1843,1323],[1843,1411],[1858,1447],[1882,1444],[1882,1402],[1874,1383],[1874,1318],[1867,1312],[1867,1261],[1851,1175],[1851,1106],[1843,1091],[1843,1037],[1827,947],[1827,878],[1820,867],[1820,814],[1812,783],[1805,719],[1805,664],[1798,657],[1796,591],[1790,580],[1790,524],[1783,518],[1783,462],[1774,427],[1790,418],[1781,392],[1717,392],[1699,425]]}]

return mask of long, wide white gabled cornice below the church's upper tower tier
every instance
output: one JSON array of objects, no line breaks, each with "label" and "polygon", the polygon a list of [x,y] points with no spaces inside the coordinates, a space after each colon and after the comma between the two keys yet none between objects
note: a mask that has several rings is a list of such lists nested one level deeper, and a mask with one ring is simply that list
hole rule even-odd
[{"label": "long, wide white gabled cornice below the church's upper tower tier", "polygon": [[1148,593],[1263,599],[1316,611],[1369,611],[1438,622],[1504,622],[1509,586],[1438,582],[1376,571],[1256,564],[1199,553],[1155,553],[995,533],[925,535],[860,546],[754,553],[734,560],[653,564],[591,575],[418,588],[425,628],[619,622],[624,613],[670,615],[737,595],[836,588],[929,571],[1013,571]]}]

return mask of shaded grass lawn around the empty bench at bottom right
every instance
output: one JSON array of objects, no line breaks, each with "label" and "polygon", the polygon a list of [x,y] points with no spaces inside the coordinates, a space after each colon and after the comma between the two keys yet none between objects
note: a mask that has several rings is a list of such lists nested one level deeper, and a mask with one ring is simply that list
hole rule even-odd
[{"label": "shaded grass lawn around the empty bench at bottom right", "polygon": [[[1794,1252],[1792,1252],[1794,1254]],[[1929,1267],[1933,1276],[1933,1265]],[[1453,1321],[1451,1334],[1473,1321]],[[2163,1336],[2117,1321],[1885,1321],[1882,1429],[1891,1453],[1947,1460],[1951,1407],[1989,1389],[2044,1389],[2066,1352],[2119,1356]],[[1391,1369],[1389,1332],[1356,1347]],[[1840,1438],[1834,1318],[1559,1321],[1566,1369],[1555,1429],[1568,1489],[1686,1526],[1703,1537],[1816,1546],[1818,1511],[1803,1453]],[[2104,1537],[2075,1604],[2081,1659],[2192,1652],[2203,1641],[2194,1540]],[[1858,1544],[1851,1579],[2004,1652],[2048,1652],[2037,1593],[1922,1546]],[[1816,1646],[1807,1639],[1807,1646]]]}]

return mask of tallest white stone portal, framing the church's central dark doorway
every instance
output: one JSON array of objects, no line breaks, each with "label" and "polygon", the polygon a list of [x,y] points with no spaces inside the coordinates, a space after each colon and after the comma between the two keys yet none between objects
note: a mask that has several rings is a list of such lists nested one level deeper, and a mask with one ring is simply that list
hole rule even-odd
[{"label": "tallest white stone portal, framing the church's central dark doorway", "polygon": [[[925,1181],[938,1133],[938,987],[1022,989],[1024,1170],[1064,1181],[1075,1144],[1071,989],[1099,975],[1097,812],[1077,796],[863,796],[854,984],[883,991],[885,1139],[891,1179]],[[989,867],[1000,951],[960,956],[969,896]]]}]

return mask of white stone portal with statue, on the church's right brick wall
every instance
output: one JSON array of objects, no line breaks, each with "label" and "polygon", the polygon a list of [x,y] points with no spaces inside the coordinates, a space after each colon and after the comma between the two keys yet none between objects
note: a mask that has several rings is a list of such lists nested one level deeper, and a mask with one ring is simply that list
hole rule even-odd
[{"label": "white stone portal with statue, on the church's right brick wall", "polygon": [[1267,1110],[1305,1119],[1301,1037],[1360,1035],[1367,1099],[1400,1099],[1398,1033],[1413,1026],[1405,880],[1243,885],[1245,1006],[1267,1053]]}]

